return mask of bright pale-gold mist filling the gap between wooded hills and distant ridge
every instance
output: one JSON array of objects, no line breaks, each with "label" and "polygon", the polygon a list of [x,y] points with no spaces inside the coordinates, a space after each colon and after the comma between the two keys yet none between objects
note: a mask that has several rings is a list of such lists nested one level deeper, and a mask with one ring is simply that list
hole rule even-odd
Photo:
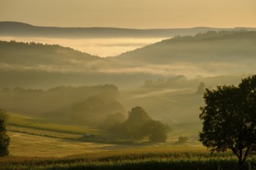
[{"label": "bright pale-gold mist filling the gap between wooded hills and distant ridge", "polygon": [[71,47],[72,49],[76,49],[84,53],[89,53],[94,56],[106,57],[117,56],[126,51],[147,46],[155,42],[160,42],[164,38],[57,39],[47,37],[0,36],[0,39],[4,41],[16,40],[17,42],[40,42],[43,44],[51,45],[58,44],[60,46]]}]

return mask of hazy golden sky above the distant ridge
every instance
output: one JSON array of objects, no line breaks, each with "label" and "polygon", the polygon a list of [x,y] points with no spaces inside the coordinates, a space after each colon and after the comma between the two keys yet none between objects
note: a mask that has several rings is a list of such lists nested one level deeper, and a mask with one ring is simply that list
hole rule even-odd
[{"label": "hazy golden sky above the distant ridge", "polygon": [[0,0],[0,21],[139,29],[256,27],[256,0]]}]

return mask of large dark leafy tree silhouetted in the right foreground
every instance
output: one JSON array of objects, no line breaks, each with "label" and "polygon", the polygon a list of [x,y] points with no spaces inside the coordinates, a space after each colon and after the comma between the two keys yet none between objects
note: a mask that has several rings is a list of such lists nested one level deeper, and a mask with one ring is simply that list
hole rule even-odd
[{"label": "large dark leafy tree silhouetted in the right foreground", "polygon": [[203,98],[199,141],[211,151],[230,149],[243,169],[247,156],[256,150],[256,75],[243,79],[238,87],[206,89]]}]

